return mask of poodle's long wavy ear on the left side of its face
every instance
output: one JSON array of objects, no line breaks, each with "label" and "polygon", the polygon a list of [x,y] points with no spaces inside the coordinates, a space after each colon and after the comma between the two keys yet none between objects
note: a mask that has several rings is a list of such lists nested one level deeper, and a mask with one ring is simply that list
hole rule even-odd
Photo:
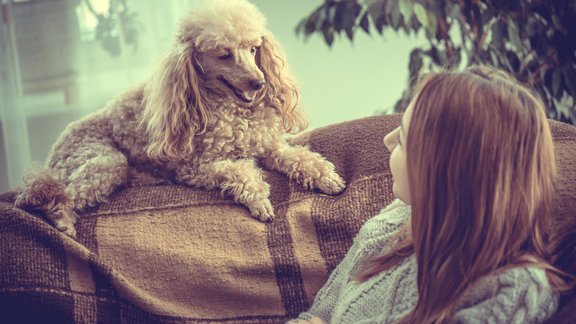
[{"label": "poodle's long wavy ear on the left side of its face", "polygon": [[196,133],[206,128],[208,109],[195,69],[195,49],[178,42],[144,88],[140,125],[154,160],[185,159],[193,151]]}]

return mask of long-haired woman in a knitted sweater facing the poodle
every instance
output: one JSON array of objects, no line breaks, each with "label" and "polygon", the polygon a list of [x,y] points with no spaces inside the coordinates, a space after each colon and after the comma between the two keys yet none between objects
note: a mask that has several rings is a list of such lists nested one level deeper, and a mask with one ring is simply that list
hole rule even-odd
[{"label": "long-haired woman in a knitted sweater facing the poodle", "polygon": [[312,323],[536,323],[568,275],[547,262],[555,158],[542,103],[502,72],[426,76],[384,138],[398,198],[362,227]]}]

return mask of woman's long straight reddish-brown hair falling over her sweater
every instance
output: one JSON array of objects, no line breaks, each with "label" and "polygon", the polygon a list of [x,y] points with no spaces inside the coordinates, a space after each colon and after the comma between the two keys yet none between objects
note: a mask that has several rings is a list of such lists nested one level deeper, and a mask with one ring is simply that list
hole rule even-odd
[{"label": "woman's long straight reddish-brown hair falling over her sweater", "polygon": [[466,288],[509,267],[544,268],[556,290],[568,289],[570,276],[545,249],[556,164],[541,101],[486,67],[427,75],[415,93],[406,139],[411,221],[405,238],[355,278],[414,253],[419,299],[404,323],[447,321]]}]

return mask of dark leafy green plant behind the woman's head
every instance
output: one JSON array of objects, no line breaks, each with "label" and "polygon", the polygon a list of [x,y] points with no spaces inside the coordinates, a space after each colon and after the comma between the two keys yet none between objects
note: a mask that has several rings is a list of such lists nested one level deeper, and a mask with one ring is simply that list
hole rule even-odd
[{"label": "dark leafy green plant behind the woman's head", "polygon": [[[576,124],[576,0],[325,0],[296,27],[353,41],[358,30],[424,32],[409,75],[460,65],[504,69],[540,93],[550,118]],[[405,107],[406,92],[395,110]]]}]

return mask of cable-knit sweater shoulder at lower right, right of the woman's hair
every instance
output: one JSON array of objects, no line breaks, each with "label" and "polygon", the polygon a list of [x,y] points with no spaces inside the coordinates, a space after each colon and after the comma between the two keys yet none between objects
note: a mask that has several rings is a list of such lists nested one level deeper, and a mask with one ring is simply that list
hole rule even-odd
[{"label": "cable-knit sweater shoulder at lower right, right of the woman's hair", "polygon": [[545,271],[508,269],[483,278],[466,292],[453,323],[542,323],[558,307]]}]

